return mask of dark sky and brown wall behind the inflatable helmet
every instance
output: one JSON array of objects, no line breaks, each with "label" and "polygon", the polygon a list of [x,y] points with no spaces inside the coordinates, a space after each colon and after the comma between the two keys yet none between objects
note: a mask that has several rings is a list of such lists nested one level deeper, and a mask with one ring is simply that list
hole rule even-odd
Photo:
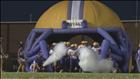
[{"label": "dark sky and brown wall behind the inflatable helmet", "polygon": [[[8,54],[4,71],[17,70],[18,42],[25,42],[37,20],[59,1],[1,1],[1,36],[3,52]],[[120,17],[132,42],[133,53],[140,43],[140,1],[101,1]],[[10,60],[10,61],[9,61]]]}]

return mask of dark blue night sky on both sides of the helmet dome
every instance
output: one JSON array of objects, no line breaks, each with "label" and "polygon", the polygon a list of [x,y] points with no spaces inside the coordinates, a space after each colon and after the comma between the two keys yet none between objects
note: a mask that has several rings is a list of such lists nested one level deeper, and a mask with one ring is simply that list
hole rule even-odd
[{"label": "dark blue night sky on both sides of the helmet dome", "polygon": [[[59,1],[1,1],[1,21],[37,21],[44,11],[57,2]],[[140,1],[101,2],[113,9],[121,20],[136,20],[136,15],[140,20]]]}]

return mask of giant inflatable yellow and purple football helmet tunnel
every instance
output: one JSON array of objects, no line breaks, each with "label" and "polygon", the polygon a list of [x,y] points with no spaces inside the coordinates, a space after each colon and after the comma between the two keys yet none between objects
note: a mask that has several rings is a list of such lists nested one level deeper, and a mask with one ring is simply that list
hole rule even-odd
[{"label": "giant inflatable yellow and purple football helmet tunnel", "polygon": [[[123,72],[129,71],[131,44],[125,29],[119,17],[99,1],[61,1],[45,11],[25,43],[26,71],[30,71],[38,52],[44,59],[49,57],[52,42],[76,39],[97,40],[100,59],[105,59],[111,49],[113,61]],[[47,69],[51,71],[51,65]]]}]

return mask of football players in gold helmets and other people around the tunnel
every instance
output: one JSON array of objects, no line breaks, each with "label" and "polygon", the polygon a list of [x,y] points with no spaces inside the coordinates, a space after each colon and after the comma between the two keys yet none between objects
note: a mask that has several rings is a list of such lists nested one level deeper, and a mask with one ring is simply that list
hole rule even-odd
[{"label": "football players in gold helmets and other people around the tunnel", "polygon": [[[67,54],[57,62],[54,62],[51,64],[53,72],[82,72],[82,69],[80,68],[78,62],[78,53],[77,50],[81,47],[88,47],[95,51],[97,54],[100,54],[100,44],[97,41],[93,41],[91,44],[88,43],[88,41],[81,41],[79,44],[77,43],[71,43],[71,42],[64,42],[65,46],[68,48]],[[22,53],[23,50],[23,43],[20,42],[20,48],[18,50],[18,62],[19,67],[17,72],[24,71],[25,70],[25,64],[26,59],[24,58],[24,55]],[[49,45],[49,55],[54,53],[54,47],[57,45],[57,43],[52,43]],[[108,56],[111,57],[111,56]],[[110,58],[111,59],[111,58]],[[30,70],[31,72],[45,72],[48,71],[45,67],[42,66],[44,59],[40,53],[37,54],[36,59],[31,63]],[[140,70],[140,45],[138,52],[136,54],[136,64],[137,69]],[[115,68],[112,70],[112,72],[120,72],[119,68],[114,66]]]}]

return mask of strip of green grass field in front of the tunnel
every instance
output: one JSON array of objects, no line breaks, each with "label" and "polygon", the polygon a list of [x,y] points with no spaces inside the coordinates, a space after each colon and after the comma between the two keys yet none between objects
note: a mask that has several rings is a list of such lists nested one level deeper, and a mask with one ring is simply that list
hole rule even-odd
[{"label": "strip of green grass field in front of the tunnel", "polygon": [[2,72],[1,79],[140,79],[140,74]]}]

